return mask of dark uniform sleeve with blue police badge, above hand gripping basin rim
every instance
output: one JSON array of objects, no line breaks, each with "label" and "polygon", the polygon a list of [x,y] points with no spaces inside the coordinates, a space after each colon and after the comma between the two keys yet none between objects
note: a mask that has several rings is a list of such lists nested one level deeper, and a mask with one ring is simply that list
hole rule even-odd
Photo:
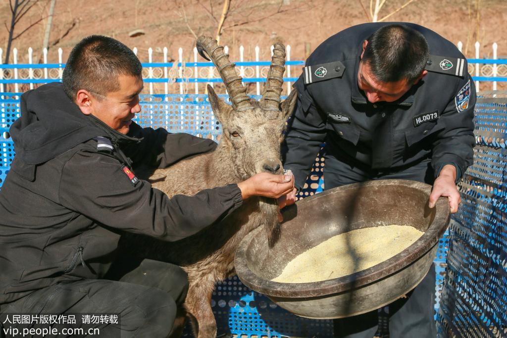
[{"label": "dark uniform sleeve with blue police badge, above hand gripping basin rim", "polygon": [[[465,65],[466,69],[466,65]],[[458,110],[459,95],[462,89],[469,87],[469,99],[465,109],[460,107]],[[447,104],[439,123],[444,123],[445,128],[440,132],[433,142],[433,154],[431,165],[434,169],[435,177],[438,177],[440,171],[446,164],[452,164],[456,167],[456,182],[461,175],[474,162],[474,146],[476,144],[474,136],[474,108],[476,104],[476,91],[472,77],[467,77],[459,81],[454,95]]]}]

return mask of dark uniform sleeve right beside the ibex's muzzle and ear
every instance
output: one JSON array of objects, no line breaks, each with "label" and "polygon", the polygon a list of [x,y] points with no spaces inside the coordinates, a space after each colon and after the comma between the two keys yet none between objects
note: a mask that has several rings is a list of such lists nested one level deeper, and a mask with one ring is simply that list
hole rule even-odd
[{"label": "dark uniform sleeve right beside the ibex's muzzle and ear", "polygon": [[285,136],[283,167],[292,170],[295,186],[301,190],[315,162],[320,144],[325,139],[326,131],[325,118],[306,90],[301,77],[294,87],[298,90],[298,100]]}]

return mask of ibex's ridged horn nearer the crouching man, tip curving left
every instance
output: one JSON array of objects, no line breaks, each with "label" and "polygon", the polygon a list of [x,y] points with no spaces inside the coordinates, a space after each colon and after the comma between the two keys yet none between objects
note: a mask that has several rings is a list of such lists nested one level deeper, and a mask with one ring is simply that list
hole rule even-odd
[{"label": "ibex's ridged horn nearer the crouching man, tip curving left", "polygon": [[199,36],[196,47],[203,58],[209,60],[203,53],[206,52],[215,64],[229,93],[234,110],[252,109],[250,98],[246,95],[246,87],[241,83],[242,78],[236,73],[236,65],[229,61],[229,54],[224,53],[224,47],[219,46],[216,40],[208,36]]}]

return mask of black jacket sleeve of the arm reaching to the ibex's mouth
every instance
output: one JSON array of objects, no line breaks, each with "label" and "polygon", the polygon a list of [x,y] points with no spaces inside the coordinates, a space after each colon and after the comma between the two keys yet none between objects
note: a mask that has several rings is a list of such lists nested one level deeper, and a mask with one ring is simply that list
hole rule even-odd
[{"label": "black jacket sleeve of the arm reaching to the ibex's mouth", "polygon": [[193,235],[242,203],[237,184],[169,199],[149,182],[132,184],[116,159],[87,149],[63,167],[60,203],[105,226],[166,241]]}]

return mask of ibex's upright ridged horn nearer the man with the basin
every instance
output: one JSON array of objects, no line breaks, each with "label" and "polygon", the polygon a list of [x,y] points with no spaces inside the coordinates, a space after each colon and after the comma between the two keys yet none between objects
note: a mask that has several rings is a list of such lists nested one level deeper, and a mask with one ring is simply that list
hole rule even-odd
[{"label": "ibex's upright ridged horn nearer the man with the basin", "polygon": [[278,110],[280,104],[280,94],[283,85],[283,73],[285,72],[285,46],[277,42],[273,48],[273,57],[269,67],[268,77],[262,98],[261,107],[266,110]]}]

